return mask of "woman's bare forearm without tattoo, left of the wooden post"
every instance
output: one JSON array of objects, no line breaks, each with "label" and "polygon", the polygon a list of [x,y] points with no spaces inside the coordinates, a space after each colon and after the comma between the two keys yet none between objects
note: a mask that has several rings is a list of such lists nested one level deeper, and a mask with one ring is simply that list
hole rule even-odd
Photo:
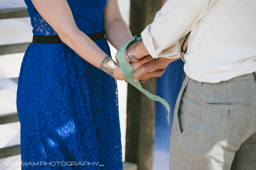
[{"label": "woman's bare forearm without tattoo, left of the wooden post", "polygon": [[105,35],[109,43],[119,50],[124,43],[132,39],[132,33],[121,16],[117,0],[107,1],[103,17]]}]

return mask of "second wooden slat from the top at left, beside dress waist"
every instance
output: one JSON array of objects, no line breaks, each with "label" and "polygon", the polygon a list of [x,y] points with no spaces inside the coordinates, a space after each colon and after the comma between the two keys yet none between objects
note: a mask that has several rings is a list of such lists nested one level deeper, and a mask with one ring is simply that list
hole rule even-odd
[{"label": "second wooden slat from the top at left, beside dress waist", "polygon": [[30,43],[0,45],[0,55],[25,52]]}]

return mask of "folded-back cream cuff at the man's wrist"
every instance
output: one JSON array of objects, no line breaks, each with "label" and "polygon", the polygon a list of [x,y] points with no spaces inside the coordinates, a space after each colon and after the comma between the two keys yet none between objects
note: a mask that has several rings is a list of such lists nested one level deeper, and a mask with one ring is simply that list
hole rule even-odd
[{"label": "folded-back cream cuff at the man's wrist", "polygon": [[151,24],[148,25],[141,33],[143,43],[148,50],[149,54],[153,58],[165,57],[165,58],[178,58],[180,57],[180,43],[179,41],[173,44],[171,47],[168,47],[166,50],[161,51],[159,54],[156,53],[153,44],[153,37],[150,35],[149,28]]}]

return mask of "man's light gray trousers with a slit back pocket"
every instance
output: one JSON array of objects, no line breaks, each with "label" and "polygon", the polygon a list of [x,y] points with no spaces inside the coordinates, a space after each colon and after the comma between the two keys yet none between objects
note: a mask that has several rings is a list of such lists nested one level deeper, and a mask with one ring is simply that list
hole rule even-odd
[{"label": "man's light gray trousers with a slit back pocket", "polygon": [[188,76],[177,98],[170,170],[256,170],[255,73],[220,83]]}]

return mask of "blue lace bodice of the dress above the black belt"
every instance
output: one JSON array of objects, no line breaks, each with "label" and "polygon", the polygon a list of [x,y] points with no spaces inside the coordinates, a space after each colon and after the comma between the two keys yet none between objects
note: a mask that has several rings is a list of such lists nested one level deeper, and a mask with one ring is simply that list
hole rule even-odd
[{"label": "blue lace bodice of the dress above the black belt", "polygon": [[[67,0],[77,27],[85,34],[104,29],[103,10],[107,0]],[[33,26],[34,35],[57,35],[52,27],[37,12],[31,0],[25,0]]]}]

